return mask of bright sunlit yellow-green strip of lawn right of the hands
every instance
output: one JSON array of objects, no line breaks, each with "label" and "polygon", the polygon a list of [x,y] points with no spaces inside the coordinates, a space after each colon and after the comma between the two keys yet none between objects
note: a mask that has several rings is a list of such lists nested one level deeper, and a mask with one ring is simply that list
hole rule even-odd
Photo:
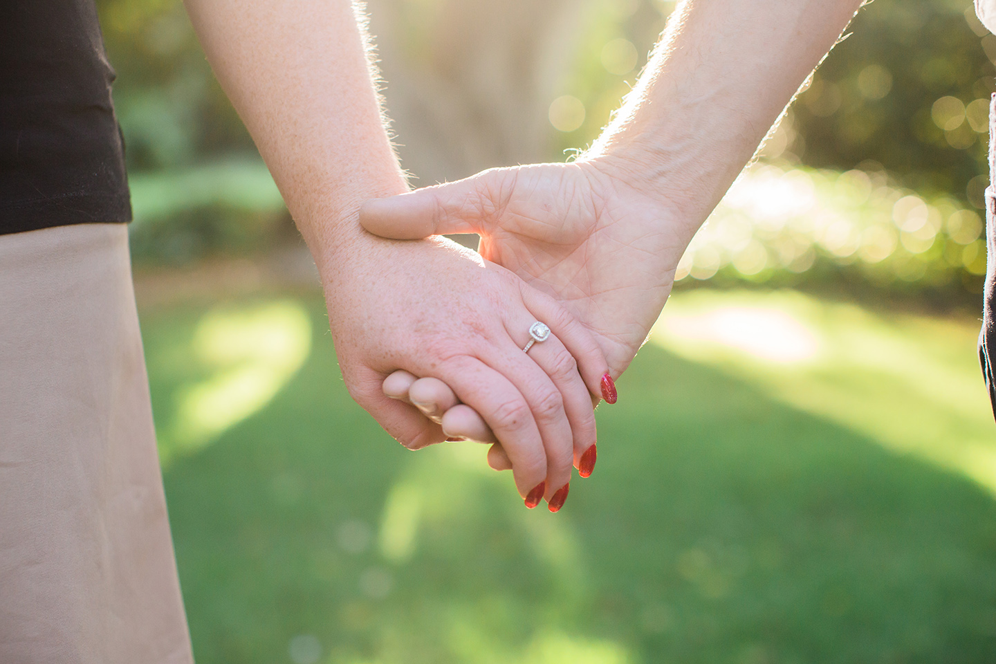
[{"label": "bright sunlit yellow-green strip of lawn right of the hands", "polygon": [[996,495],[976,326],[791,291],[697,291],[671,298],[650,339]]}]

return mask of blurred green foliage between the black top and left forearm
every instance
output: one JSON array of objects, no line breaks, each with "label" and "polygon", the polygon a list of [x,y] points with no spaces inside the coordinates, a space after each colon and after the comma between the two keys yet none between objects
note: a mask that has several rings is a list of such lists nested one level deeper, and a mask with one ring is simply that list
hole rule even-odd
[{"label": "blurred green foliage between the black top and left forearm", "polygon": [[246,254],[295,237],[252,139],[214,79],[181,3],[99,1],[118,72],[138,263]]}]

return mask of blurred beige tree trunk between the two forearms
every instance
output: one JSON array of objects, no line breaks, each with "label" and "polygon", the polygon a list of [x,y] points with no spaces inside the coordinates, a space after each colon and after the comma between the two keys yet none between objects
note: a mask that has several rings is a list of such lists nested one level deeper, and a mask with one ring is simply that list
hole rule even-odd
[{"label": "blurred beige tree trunk between the two forearms", "polygon": [[549,158],[591,0],[371,0],[384,96],[416,186]]}]

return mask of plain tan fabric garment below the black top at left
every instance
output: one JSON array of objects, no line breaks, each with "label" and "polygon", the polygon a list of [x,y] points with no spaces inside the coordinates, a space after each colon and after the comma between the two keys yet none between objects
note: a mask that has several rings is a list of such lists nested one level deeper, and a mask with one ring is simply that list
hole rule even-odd
[{"label": "plain tan fabric garment below the black top at left", "polygon": [[0,662],[192,662],[124,224],[0,236]]}]

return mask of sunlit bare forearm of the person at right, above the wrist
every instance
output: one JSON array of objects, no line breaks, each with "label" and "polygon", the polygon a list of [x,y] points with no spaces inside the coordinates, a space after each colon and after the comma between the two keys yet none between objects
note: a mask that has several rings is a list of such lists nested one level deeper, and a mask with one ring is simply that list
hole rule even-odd
[{"label": "sunlit bare forearm of the person at right, above the wrist", "polygon": [[589,156],[663,193],[694,233],[862,3],[684,0]]}]

